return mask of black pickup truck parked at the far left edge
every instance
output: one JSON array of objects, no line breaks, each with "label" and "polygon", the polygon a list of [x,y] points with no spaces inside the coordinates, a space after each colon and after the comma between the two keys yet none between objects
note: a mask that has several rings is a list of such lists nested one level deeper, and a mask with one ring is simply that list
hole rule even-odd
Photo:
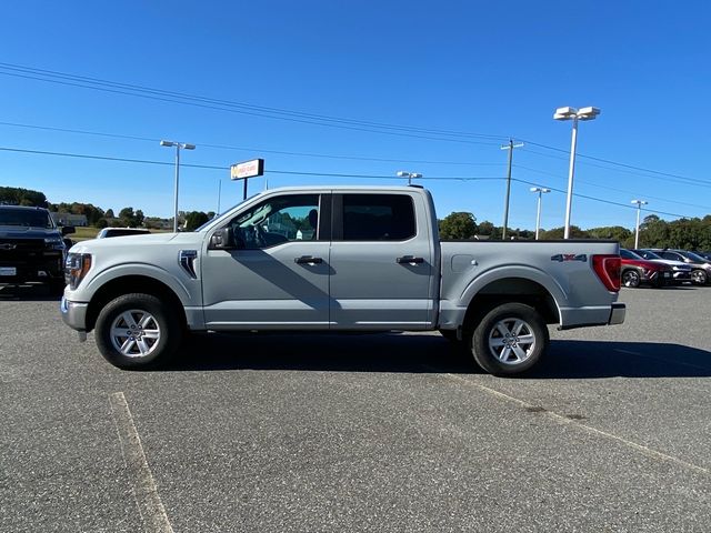
[{"label": "black pickup truck parked at the far left edge", "polygon": [[0,205],[0,284],[42,281],[54,293],[64,288],[64,235],[42,208]]}]

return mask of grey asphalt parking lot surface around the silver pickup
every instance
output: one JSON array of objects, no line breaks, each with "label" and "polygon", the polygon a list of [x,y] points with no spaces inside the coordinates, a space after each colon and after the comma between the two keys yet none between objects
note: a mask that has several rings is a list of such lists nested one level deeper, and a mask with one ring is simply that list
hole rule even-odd
[{"label": "grey asphalt parking lot surface around the silver pickup", "polygon": [[0,531],[699,531],[711,288],[623,290],[523,379],[439,334],[201,338],[160,372],[0,290]]}]

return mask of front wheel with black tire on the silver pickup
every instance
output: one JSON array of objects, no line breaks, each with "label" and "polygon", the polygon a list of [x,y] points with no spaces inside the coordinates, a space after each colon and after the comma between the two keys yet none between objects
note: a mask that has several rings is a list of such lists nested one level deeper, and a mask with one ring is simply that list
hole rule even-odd
[{"label": "front wheel with black tire on the silver pickup", "polygon": [[[133,332],[126,316],[129,316],[129,321],[132,319],[138,331]],[[111,330],[114,326],[116,330],[126,328],[126,334],[112,338]],[[118,296],[97,318],[96,339],[99,351],[119,369],[146,370],[164,364],[176,354],[182,338],[183,329],[176,311],[152,294]],[[123,342],[123,345],[119,346],[119,342]]]}]

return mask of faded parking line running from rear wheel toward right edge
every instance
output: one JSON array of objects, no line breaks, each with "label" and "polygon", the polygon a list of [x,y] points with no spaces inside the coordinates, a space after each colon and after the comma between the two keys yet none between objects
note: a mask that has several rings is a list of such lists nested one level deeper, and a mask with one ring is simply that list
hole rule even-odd
[{"label": "faded parking line running from rear wheel toward right edge", "polygon": [[[423,365],[423,366],[427,368],[427,370],[430,371],[430,372],[438,373],[438,370],[432,368],[432,366],[429,366],[429,365]],[[593,428],[591,425],[581,423],[579,420],[570,419],[568,416],[563,416],[562,414],[558,414],[554,411],[549,411],[547,409],[542,409],[539,405],[533,405],[533,404],[528,403],[528,402],[525,402],[523,400],[520,400],[518,398],[514,398],[514,396],[511,396],[511,395],[505,394],[503,392],[500,392],[500,391],[497,391],[494,389],[491,389],[491,388],[489,388],[487,385],[482,385],[481,383],[475,383],[473,381],[470,381],[470,380],[467,380],[467,379],[461,378],[459,375],[450,374],[450,373],[445,373],[445,374],[441,374],[440,373],[439,375],[442,375],[442,376],[444,376],[444,378],[447,378],[449,380],[452,380],[452,381],[457,381],[459,383],[464,383],[464,384],[467,384],[469,386],[474,386],[474,388],[485,392],[489,395],[492,395],[494,398],[499,398],[500,400],[504,400],[504,401],[508,401],[508,402],[511,402],[511,403],[515,403],[515,404],[518,404],[518,405],[520,405],[520,406],[522,406],[522,408],[524,408],[524,409],[527,409],[527,410],[529,410],[531,412],[540,412],[541,414],[545,414],[545,415],[552,418],[555,422],[558,422],[560,424],[573,425],[573,426],[577,426],[577,428],[579,428],[579,429],[581,429],[583,431],[587,431],[588,433],[600,435],[600,436],[603,436],[605,439],[610,439],[612,441],[617,441],[617,442],[625,445],[627,447],[629,447],[631,450],[634,450],[634,451],[637,451],[637,452],[641,453],[642,455],[645,455],[645,456],[648,456],[650,459],[654,459],[657,461],[674,463],[674,464],[678,464],[680,466],[683,466],[684,469],[692,470],[694,472],[699,472],[701,474],[709,475],[709,470],[704,469],[703,466],[699,466],[697,464],[689,463],[688,461],[684,461],[682,459],[674,457],[673,455],[668,455],[665,453],[659,452],[659,451],[653,450],[653,449],[651,449],[649,446],[645,446],[643,444],[638,444],[637,442],[629,441],[629,440],[627,440],[627,439],[624,439],[622,436],[618,436],[618,435],[614,435],[612,433],[608,433],[607,431],[598,430],[597,428]]]}]

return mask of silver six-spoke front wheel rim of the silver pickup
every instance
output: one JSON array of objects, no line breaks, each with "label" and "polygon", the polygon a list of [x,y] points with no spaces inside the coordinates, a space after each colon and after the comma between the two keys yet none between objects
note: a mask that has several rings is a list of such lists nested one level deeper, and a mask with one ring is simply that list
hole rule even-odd
[{"label": "silver six-spoke front wheel rim of the silver pickup", "polygon": [[111,343],[127,358],[146,358],[160,342],[160,325],[156,318],[141,309],[119,314],[111,324]]}]

